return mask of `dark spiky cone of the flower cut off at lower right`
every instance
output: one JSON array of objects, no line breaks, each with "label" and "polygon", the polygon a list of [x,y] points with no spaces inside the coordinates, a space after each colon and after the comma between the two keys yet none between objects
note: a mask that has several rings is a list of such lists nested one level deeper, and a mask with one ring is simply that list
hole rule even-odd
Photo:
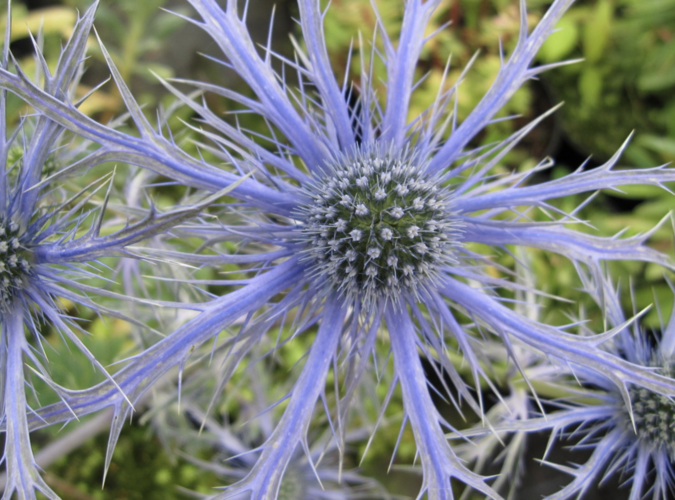
[{"label": "dark spiky cone of the flower cut off at lower right", "polygon": [[628,393],[638,438],[664,447],[671,460],[675,460],[675,401],[642,387],[630,388]]}]

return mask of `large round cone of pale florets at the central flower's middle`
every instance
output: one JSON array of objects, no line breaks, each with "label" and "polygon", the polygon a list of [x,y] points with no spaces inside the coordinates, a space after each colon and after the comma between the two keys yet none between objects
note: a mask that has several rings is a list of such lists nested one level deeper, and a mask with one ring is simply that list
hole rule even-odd
[{"label": "large round cone of pale florets at the central flower's middle", "polygon": [[417,295],[454,262],[448,192],[405,155],[359,153],[331,165],[301,215],[314,275],[365,302]]}]

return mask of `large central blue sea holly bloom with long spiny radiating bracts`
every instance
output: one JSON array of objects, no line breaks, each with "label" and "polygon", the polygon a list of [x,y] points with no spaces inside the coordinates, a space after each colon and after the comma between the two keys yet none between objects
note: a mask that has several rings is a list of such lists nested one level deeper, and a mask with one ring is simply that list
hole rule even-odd
[{"label": "large central blue sea holly bloom with long spiny radiating bracts", "polygon": [[[364,67],[358,86],[336,82],[322,31],[322,17],[329,14],[321,11],[318,1],[299,1],[306,49],[298,48],[295,61],[280,58],[282,74],[272,67],[276,56],[270,47],[262,53],[256,49],[235,0],[225,10],[215,0],[190,3],[201,18],[192,21],[218,44],[255,97],[204,82],[182,83],[231,99],[270,124],[267,135],[247,131],[166,83],[208,125],[206,130],[197,130],[204,138],[204,151],[231,165],[230,170],[189,156],[161,127],[153,128],[109,58],[140,138],[89,120],[62,96],[45,93],[21,74],[0,71],[0,86],[54,122],[98,142],[101,157],[134,163],[210,191],[252,173],[232,191],[237,203],[228,207],[227,220],[183,228],[204,238],[203,248],[214,252],[156,252],[198,265],[244,264],[249,274],[237,281],[219,281],[239,288],[200,305],[202,312],[194,320],[139,353],[114,376],[124,395],[134,401],[168,369],[182,366],[195,346],[237,318],[246,321],[232,337],[227,373],[268,332],[278,335],[280,320],[293,318],[288,342],[311,335],[311,327],[318,325],[284,414],[261,447],[256,464],[219,498],[240,494],[275,498],[284,471],[305,443],[319,400],[328,409],[340,442],[349,403],[368,372],[370,357],[376,356],[379,336],[390,343],[395,380],[391,392],[400,386],[404,422],[410,424],[417,443],[424,473],[420,495],[426,492],[433,500],[452,498],[452,478],[499,498],[485,478],[469,471],[448,445],[444,431],[449,426],[432,402],[420,361],[420,354],[434,359],[462,397],[481,413],[481,402],[475,400],[447,355],[449,349],[460,351],[474,380],[487,379],[471,333],[476,323],[501,337],[507,346],[516,338],[552,358],[593,366],[618,387],[631,383],[675,395],[675,382],[668,376],[600,349],[598,344],[606,336],[579,338],[502,304],[492,289],[515,290],[519,285],[509,281],[508,270],[504,277],[491,276],[486,268],[494,263],[471,249],[473,243],[496,248],[522,245],[558,253],[592,269],[615,259],[669,265],[643,245],[648,235],[628,239],[589,236],[565,226],[577,222],[573,215],[536,223],[523,214],[528,207],[556,214],[548,200],[576,193],[635,183],[661,185],[675,180],[672,170],[615,170],[617,154],[595,170],[526,186],[532,172],[501,177],[492,172],[536,123],[499,144],[469,147],[515,90],[545,69],[532,67],[533,58],[571,0],[556,0],[531,33],[525,2],[521,2],[517,45],[505,58],[491,89],[461,123],[452,114],[455,87],[439,91],[427,112],[408,123],[416,63],[427,41],[425,27],[440,0],[407,2],[398,43],[382,27],[384,50],[376,54],[386,66],[382,101],[376,95],[370,67]],[[294,87],[284,79],[287,72],[297,75]],[[350,96],[358,96],[358,106],[347,104]],[[549,165],[543,162],[540,168]],[[227,245],[221,246],[223,242]],[[238,248],[234,254],[230,253],[232,242]],[[466,318],[471,318],[468,325]],[[325,388],[331,368],[337,372],[336,380],[344,380],[333,409],[326,402]],[[37,411],[40,419],[33,425],[114,405],[115,435],[131,410],[111,382],[71,393],[65,401]]]}]

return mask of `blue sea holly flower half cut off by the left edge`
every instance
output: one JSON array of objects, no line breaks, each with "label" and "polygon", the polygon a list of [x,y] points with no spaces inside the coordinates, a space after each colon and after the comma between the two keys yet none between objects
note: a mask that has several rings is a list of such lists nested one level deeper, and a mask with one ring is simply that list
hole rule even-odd
[{"label": "blue sea holly flower half cut off by the left edge", "polygon": [[[9,13],[8,8],[8,19]],[[78,19],[53,74],[36,43],[36,80],[43,82],[45,94],[74,97],[93,19],[94,8]],[[3,70],[10,67],[10,25],[8,22],[3,40]],[[0,420],[5,432],[2,457],[7,474],[2,498],[35,499],[39,492],[57,499],[40,477],[33,458],[28,415],[35,418],[31,405],[40,395],[34,388],[27,388],[31,384],[26,370],[59,396],[69,394],[51,379],[50,349],[44,338],[51,330],[81,351],[117,387],[87,349],[81,339],[87,332],[67,315],[64,304],[121,318],[152,331],[125,315],[124,307],[112,306],[121,301],[129,304],[133,298],[101,286],[101,278],[112,281],[104,277],[110,261],[101,259],[139,258],[131,251],[132,245],[165,233],[214,200],[209,197],[202,204],[163,214],[144,209],[139,211],[141,220],[133,224],[115,217],[107,209],[114,200],[111,172],[79,184],[72,178],[75,173],[83,176],[107,159],[96,151],[91,153],[91,143],[73,137],[40,113],[27,115],[14,125],[7,116],[8,98],[7,91],[0,90]],[[125,397],[121,389],[116,390]],[[27,396],[27,392],[32,394]]]}]

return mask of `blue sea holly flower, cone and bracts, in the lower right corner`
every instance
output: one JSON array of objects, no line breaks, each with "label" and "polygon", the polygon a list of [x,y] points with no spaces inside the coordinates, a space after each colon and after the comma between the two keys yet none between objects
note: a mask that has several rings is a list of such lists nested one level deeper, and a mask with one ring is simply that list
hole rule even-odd
[{"label": "blue sea holly flower, cone and bracts, in the lower right corner", "polygon": [[[651,334],[637,321],[628,321],[619,294],[608,279],[587,275],[584,281],[607,322],[619,329],[604,347],[636,366],[675,376],[675,315],[660,333]],[[537,377],[538,382],[556,388],[556,399],[548,402],[551,409],[546,415],[536,415],[534,411],[528,416],[503,413],[499,420],[491,421],[489,428],[463,431],[461,439],[497,435],[503,439],[509,433],[545,432],[549,433],[547,450],[553,449],[557,441],[563,441],[572,450],[586,450],[589,456],[580,464],[563,465],[544,457],[545,464],[572,477],[569,484],[546,496],[548,500],[579,498],[589,488],[615,476],[623,487],[630,489],[630,500],[672,498],[675,493],[672,396],[638,385],[619,390],[611,379],[584,366],[558,366],[549,373],[539,371]]]}]

